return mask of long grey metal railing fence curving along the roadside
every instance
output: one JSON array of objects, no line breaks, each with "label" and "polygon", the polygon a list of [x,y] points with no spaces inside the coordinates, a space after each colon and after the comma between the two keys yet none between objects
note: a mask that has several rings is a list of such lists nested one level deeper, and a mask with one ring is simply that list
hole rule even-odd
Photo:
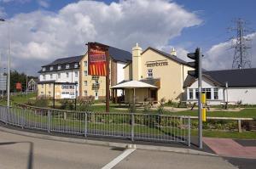
[{"label": "long grey metal railing fence curving along the roadside", "polygon": [[45,132],[190,145],[190,117],[184,115],[96,113],[0,106],[0,121]]}]

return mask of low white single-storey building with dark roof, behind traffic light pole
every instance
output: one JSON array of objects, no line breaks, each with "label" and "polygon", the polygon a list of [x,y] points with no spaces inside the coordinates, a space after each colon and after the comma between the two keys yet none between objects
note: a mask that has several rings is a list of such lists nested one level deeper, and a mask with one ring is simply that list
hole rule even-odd
[{"label": "low white single-storey building with dark roof, behind traffic light pole", "polygon": [[[196,102],[197,79],[187,76],[183,87],[187,102]],[[207,95],[207,104],[256,104],[256,68],[203,71],[202,93]]]}]

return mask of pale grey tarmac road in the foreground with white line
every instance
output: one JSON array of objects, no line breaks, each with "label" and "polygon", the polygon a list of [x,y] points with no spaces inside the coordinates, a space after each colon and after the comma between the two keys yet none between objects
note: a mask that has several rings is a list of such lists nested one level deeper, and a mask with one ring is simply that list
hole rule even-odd
[{"label": "pale grey tarmac road in the foreground with white line", "polygon": [[[116,162],[116,159],[119,159],[119,162]],[[0,132],[1,169],[102,168],[113,164],[113,161],[116,162],[113,168],[119,169],[236,168],[221,157],[142,149],[127,153],[127,149],[74,144]],[[105,168],[108,168],[107,166]]]}]

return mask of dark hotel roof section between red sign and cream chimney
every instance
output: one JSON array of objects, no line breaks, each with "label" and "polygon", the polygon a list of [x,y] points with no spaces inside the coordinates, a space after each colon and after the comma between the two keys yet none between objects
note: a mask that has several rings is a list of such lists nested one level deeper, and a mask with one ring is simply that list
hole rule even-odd
[{"label": "dark hotel roof section between red sign and cream chimney", "polygon": [[129,62],[132,59],[131,53],[119,48],[109,47],[109,55],[112,59],[120,62]]}]

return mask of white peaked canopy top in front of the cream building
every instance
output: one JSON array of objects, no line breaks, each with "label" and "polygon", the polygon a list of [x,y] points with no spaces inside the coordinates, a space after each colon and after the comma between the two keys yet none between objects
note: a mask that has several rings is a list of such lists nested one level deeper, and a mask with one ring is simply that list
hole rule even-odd
[{"label": "white peaked canopy top in front of the cream building", "polygon": [[139,81],[129,81],[129,82],[122,82],[118,85],[115,85],[111,87],[113,89],[123,89],[123,88],[157,88],[153,85],[150,85],[145,82],[139,82]]}]

